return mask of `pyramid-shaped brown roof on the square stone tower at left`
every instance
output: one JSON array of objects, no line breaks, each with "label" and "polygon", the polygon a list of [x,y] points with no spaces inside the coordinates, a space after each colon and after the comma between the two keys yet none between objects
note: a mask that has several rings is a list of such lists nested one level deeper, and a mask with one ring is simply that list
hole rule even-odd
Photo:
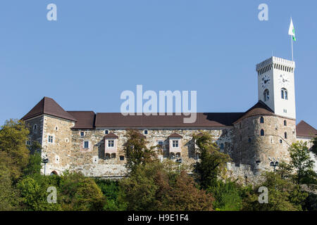
[{"label": "pyramid-shaped brown roof on the square stone tower at left", "polygon": [[38,115],[52,115],[66,120],[76,121],[76,119],[61,108],[53,98],[44,97],[37,105],[35,105],[29,113],[27,113],[21,120],[27,120]]}]

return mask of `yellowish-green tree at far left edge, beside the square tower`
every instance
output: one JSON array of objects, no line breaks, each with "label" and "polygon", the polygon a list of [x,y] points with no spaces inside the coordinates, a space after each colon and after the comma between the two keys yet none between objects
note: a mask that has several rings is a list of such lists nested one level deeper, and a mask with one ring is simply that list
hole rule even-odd
[{"label": "yellowish-green tree at far left edge, beside the square tower", "polygon": [[21,120],[7,120],[0,129],[0,158],[10,169],[14,180],[22,174],[29,160],[28,134],[29,130]]}]

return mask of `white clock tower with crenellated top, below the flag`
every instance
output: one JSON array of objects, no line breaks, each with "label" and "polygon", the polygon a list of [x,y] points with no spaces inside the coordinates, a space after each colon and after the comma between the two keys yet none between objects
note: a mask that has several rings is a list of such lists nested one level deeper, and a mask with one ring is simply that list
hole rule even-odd
[{"label": "white clock tower with crenellated top, below the flag", "polygon": [[256,65],[259,100],[266,103],[276,115],[296,119],[295,63],[271,57]]}]

